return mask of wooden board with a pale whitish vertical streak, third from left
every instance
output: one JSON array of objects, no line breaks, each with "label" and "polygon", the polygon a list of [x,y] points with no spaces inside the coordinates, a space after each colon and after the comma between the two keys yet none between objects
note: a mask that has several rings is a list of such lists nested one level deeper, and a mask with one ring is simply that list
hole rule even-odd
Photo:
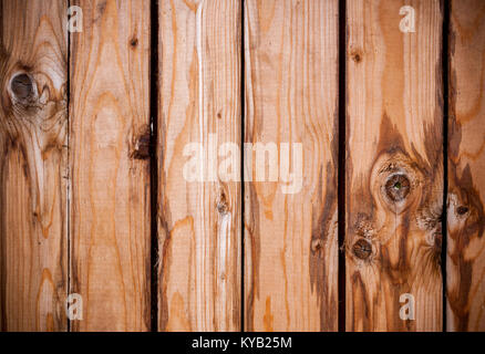
[{"label": "wooden board with a pale whitish vertical streak, third from left", "polygon": [[240,1],[159,1],[158,52],[158,330],[238,331]]}]

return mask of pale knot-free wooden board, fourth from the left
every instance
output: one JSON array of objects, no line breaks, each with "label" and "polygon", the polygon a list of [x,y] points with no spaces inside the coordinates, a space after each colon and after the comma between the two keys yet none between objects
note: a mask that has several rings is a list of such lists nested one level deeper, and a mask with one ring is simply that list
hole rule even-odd
[{"label": "pale knot-free wooden board, fourth from the left", "polygon": [[245,327],[337,331],[338,1],[245,3]]}]

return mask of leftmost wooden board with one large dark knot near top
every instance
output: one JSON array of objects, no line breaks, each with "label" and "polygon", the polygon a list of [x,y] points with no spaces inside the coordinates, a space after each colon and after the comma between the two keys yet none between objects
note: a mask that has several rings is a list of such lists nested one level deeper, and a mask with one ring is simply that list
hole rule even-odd
[{"label": "leftmost wooden board with one large dark knot near top", "polygon": [[65,1],[0,1],[0,330],[65,331]]}]

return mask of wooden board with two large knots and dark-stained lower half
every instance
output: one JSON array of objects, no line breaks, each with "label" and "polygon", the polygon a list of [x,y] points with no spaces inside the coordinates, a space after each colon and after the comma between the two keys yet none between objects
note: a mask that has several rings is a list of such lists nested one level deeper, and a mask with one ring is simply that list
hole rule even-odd
[{"label": "wooden board with two large knots and dark-stained lower half", "polygon": [[442,329],[441,6],[347,1],[348,331]]}]

